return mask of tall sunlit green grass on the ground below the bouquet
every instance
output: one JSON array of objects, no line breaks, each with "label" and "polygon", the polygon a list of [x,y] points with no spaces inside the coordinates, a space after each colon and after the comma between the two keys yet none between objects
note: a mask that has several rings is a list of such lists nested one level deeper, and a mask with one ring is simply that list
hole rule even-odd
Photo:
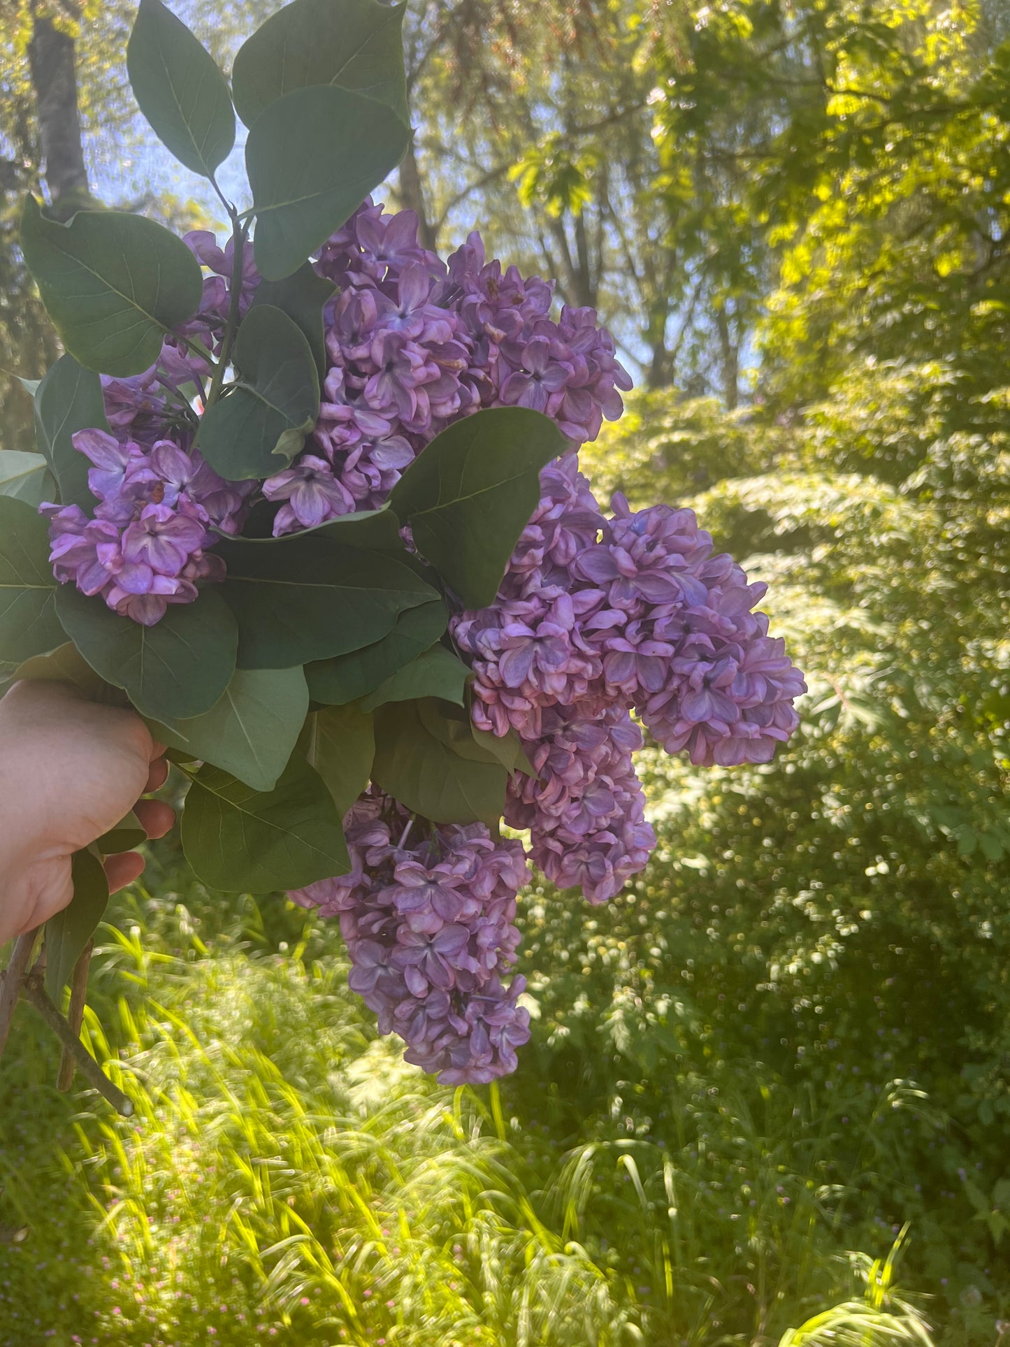
[{"label": "tall sunlit green grass on the ground below the bouquet", "polygon": [[303,913],[211,931],[148,898],[120,925],[86,1037],[137,1113],[70,1121],[36,1083],[62,1152],[4,1122],[0,1219],[34,1226],[0,1249],[4,1347],[929,1343],[770,1091],[755,1117],[696,1076],[665,1136],[619,1113],[564,1136],[547,1084],[405,1065]]}]

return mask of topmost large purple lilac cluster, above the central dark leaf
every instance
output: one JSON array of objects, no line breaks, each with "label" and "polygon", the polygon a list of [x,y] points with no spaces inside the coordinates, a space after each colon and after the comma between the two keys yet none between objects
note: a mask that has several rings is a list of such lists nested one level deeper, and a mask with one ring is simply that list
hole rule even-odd
[{"label": "topmost large purple lilac cluster, above the central dark leaf", "polygon": [[551,287],[485,260],[477,233],[443,263],[413,211],[370,201],[323,247],[339,286],[327,307],[327,372],[308,451],[264,484],[275,533],[382,504],[446,426],[481,407],[532,407],[575,443],[621,415],[630,380],[590,308],[548,317]]}]

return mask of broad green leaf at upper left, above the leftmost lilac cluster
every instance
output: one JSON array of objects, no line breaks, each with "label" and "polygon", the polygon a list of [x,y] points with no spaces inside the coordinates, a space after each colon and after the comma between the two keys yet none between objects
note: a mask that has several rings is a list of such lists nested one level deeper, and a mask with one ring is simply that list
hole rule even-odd
[{"label": "broad green leaf at upper left, above the leftmost lilac cluster", "polygon": [[140,374],[162,339],[199,306],[203,279],[190,249],[143,216],[79,210],[47,220],[34,197],[22,213],[22,252],[66,349],[104,374]]}]

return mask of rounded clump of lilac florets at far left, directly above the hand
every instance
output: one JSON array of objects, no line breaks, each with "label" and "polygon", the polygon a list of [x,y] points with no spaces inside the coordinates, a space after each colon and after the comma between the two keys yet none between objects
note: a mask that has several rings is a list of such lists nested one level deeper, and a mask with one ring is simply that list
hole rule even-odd
[{"label": "rounded clump of lilac florets at far left, directly above the hand", "polygon": [[94,465],[88,485],[97,504],[94,519],[78,505],[42,506],[62,585],[101,594],[123,617],[154,626],[170,603],[191,603],[199,581],[224,579],[224,562],[207,551],[213,529],[238,531],[255,484],[225,482],[198,450],[170,439],[144,447],[81,430],[73,445]]}]

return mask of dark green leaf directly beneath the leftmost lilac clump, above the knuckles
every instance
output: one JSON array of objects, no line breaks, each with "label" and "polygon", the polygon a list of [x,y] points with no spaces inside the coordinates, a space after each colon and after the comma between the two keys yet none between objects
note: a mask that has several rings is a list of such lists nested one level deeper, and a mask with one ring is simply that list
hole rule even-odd
[{"label": "dark green leaf directly beneath the leftmost lilac clump, above the knuckles", "polygon": [[234,672],[238,632],[217,590],[203,590],[195,603],[170,605],[154,626],[120,617],[70,585],[59,587],[57,612],[96,674],[152,721],[202,715]]}]

